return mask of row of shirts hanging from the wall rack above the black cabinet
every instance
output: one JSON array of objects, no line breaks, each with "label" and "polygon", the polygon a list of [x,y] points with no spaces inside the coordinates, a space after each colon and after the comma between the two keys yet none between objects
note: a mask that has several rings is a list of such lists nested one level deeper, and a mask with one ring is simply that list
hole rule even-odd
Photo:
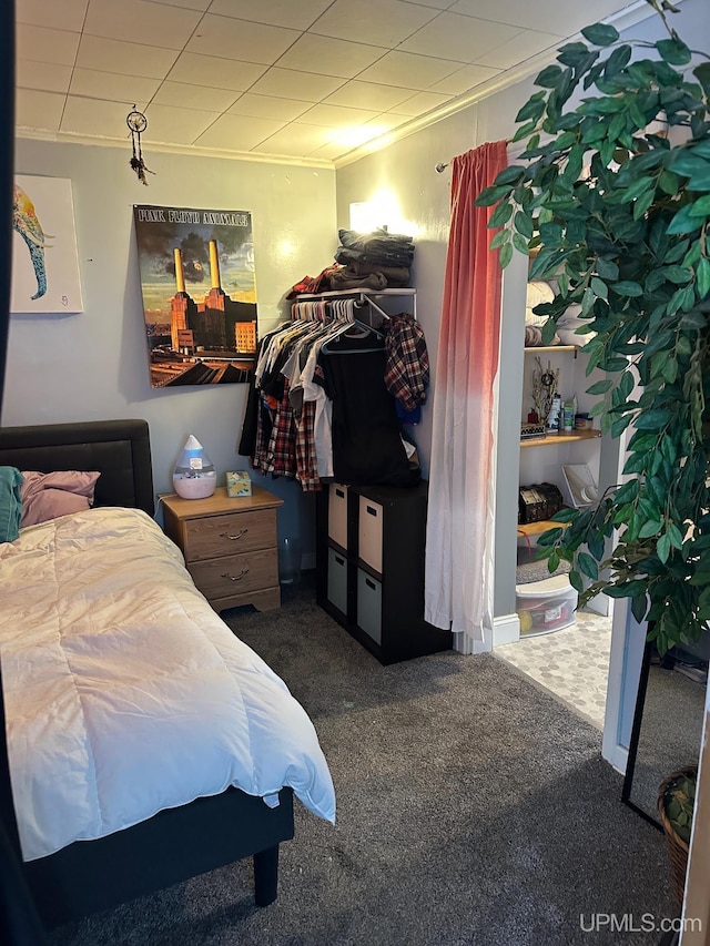
[{"label": "row of shirts hanging from the wall rack above the black cabinet", "polygon": [[395,394],[416,409],[426,398],[424,335],[406,313],[383,313],[385,334],[359,321],[364,308],[353,298],[298,301],[296,317],[261,339],[239,447],[254,469],[293,477],[304,491],[324,479],[418,482]]}]

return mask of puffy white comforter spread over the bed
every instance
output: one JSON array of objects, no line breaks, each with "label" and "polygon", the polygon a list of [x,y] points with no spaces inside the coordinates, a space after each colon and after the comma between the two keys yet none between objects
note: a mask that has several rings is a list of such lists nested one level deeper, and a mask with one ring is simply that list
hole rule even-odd
[{"label": "puffy white comforter spread over the bed", "polygon": [[335,820],[303,708],[196,591],[144,512],[92,509],[0,545],[0,651],[23,856],[236,785]]}]

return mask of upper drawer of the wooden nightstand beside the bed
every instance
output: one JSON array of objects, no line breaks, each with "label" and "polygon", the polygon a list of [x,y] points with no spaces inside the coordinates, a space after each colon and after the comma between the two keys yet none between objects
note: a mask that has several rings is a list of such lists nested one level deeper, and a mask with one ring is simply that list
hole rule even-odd
[{"label": "upper drawer of the wooden nightstand beside the bed", "polygon": [[268,548],[276,548],[274,509],[209,516],[185,523],[183,551],[187,562]]}]

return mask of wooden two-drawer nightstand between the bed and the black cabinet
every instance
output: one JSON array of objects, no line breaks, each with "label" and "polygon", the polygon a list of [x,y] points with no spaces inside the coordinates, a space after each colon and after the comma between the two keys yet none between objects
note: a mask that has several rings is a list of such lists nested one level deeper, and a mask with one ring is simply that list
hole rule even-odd
[{"label": "wooden two-drawer nightstand between the bed and the black cabinet", "polygon": [[207,499],[160,497],[165,533],[182,550],[196,587],[215,611],[281,607],[276,509],[283,499],[258,486],[231,499],[217,487]]}]

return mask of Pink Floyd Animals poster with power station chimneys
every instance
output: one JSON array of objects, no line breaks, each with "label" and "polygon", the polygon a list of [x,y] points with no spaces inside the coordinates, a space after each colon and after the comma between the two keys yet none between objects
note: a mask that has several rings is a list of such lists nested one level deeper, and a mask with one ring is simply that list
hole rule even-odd
[{"label": "Pink Floyd Animals poster with power station chimneys", "polygon": [[256,356],[248,211],[133,207],[151,386],[243,384]]}]

